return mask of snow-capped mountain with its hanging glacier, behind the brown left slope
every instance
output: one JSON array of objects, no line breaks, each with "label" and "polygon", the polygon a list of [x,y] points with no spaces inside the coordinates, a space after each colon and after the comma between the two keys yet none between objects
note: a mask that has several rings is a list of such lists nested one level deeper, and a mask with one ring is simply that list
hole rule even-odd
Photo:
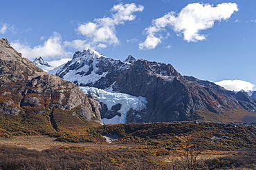
[{"label": "snow-capped mountain with its hanging glacier, behind the brown left slope", "polygon": [[[246,92],[232,92],[209,81],[183,76],[170,64],[136,60],[133,56],[114,60],[89,49],[75,52],[71,61],[49,73],[80,87],[97,88],[85,92],[100,102],[104,123],[256,120],[256,100]],[[102,99],[107,93],[113,94],[111,104]],[[131,98],[121,104],[115,94]],[[132,98],[141,98],[136,101],[140,107],[131,107]]]}]

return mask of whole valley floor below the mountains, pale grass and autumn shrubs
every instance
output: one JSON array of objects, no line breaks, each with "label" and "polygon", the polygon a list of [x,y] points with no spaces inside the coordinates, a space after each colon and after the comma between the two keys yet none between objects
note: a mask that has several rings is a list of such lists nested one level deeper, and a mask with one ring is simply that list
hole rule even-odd
[{"label": "whole valley floor below the mountains, pale grass and autumn shrubs", "polygon": [[10,136],[0,138],[0,169],[256,169],[255,134],[252,125],[182,122]]}]

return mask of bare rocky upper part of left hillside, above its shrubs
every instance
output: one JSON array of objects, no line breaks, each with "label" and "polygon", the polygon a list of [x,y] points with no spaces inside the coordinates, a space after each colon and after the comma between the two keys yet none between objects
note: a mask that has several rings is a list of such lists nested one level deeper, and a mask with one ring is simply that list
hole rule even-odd
[{"label": "bare rocky upper part of left hillside, above its shrubs", "polygon": [[47,74],[0,39],[0,114],[50,114],[53,109],[101,123],[94,101],[79,87]]}]

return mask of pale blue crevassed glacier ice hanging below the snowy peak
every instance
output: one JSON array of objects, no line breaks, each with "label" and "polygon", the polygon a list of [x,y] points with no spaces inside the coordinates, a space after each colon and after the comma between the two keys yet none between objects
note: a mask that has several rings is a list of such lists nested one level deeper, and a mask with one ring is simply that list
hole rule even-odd
[{"label": "pale blue crevassed glacier ice hanging below the snowy peak", "polygon": [[80,87],[85,94],[91,94],[93,97],[97,98],[98,101],[107,105],[108,109],[111,109],[113,105],[120,103],[122,105],[118,112],[121,116],[114,116],[111,119],[103,118],[102,122],[104,124],[117,124],[126,123],[127,112],[129,109],[142,110],[147,107],[147,99],[145,97],[136,97],[129,94],[122,94],[117,92],[107,92],[103,89],[98,89],[95,87]]}]

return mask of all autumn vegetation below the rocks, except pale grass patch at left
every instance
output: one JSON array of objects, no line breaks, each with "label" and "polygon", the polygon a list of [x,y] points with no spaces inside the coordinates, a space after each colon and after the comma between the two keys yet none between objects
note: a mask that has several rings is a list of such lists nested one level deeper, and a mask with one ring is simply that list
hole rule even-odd
[{"label": "all autumn vegetation below the rocks, except pale grass patch at left", "polygon": [[[256,166],[253,125],[179,122],[100,126],[71,115],[70,111],[55,109],[49,113],[2,115],[0,137],[47,135],[60,142],[73,142],[74,146],[55,145],[36,151],[2,145],[0,169],[253,169]],[[110,144],[104,136],[115,136],[117,140]],[[95,146],[78,147],[82,142]],[[215,153],[217,156],[211,157]]]}]

